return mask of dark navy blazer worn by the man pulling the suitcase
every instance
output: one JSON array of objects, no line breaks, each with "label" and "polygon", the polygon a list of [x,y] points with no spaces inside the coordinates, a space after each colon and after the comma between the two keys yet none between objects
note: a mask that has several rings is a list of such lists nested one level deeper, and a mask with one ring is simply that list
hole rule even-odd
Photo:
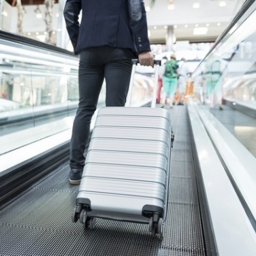
[{"label": "dark navy blazer worn by the man pulling the suitcase", "polygon": [[95,46],[150,51],[143,0],[67,0],[63,14],[76,54]]}]

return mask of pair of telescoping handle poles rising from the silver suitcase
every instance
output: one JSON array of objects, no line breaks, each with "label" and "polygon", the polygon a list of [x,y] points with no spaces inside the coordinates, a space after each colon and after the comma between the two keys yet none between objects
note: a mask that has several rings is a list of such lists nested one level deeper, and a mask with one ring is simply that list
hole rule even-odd
[{"label": "pair of telescoping handle poles rising from the silver suitcase", "polygon": [[[125,103],[126,107],[129,107],[131,105],[131,94],[133,91],[133,81],[134,81],[134,76],[135,76],[135,68],[137,66],[139,62],[138,59],[133,59],[132,60],[133,63],[133,67],[131,69],[131,80],[130,80],[130,84],[129,84],[129,91],[127,94],[127,100]],[[155,82],[154,82],[154,88],[153,88],[153,97],[152,97],[152,102],[151,102],[151,108],[155,108],[155,103],[157,100],[157,84],[158,84],[158,76],[159,76],[159,66],[161,65],[161,61],[160,60],[154,60],[154,64],[155,64]]]}]

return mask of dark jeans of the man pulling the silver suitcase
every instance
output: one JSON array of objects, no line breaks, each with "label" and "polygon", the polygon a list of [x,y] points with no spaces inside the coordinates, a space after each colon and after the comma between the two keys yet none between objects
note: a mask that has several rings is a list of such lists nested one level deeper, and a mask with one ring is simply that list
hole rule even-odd
[{"label": "dark jeans of the man pulling the silver suitcase", "polygon": [[106,106],[125,106],[131,78],[131,59],[127,49],[101,46],[80,52],[78,71],[79,104],[70,141],[71,169],[84,167],[84,150],[90,135],[91,118],[106,79]]}]

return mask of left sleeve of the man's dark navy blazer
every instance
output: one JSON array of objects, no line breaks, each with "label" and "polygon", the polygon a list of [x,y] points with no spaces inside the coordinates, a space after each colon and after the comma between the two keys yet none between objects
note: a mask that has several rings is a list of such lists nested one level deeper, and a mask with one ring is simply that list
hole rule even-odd
[{"label": "left sleeve of the man's dark navy blazer", "polygon": [[63,15],[66,22],[67,33],[71,40],[71,44],[76,49],[78,43],[78,34],[79,34],[79,22],[78,16],[81,11],[81,0],[67,0],[63,10]]}]

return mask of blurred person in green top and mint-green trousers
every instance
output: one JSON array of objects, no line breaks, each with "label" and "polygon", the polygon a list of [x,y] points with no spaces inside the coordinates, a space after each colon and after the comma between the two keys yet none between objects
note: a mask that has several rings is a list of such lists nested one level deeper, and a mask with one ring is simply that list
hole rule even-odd
[{"label": "blurred person in green top and mint-green trousers", "polygon": [[163,93],[161,96],[161,108],[165,107],[166,97],[169,95],[170,108],[173,108],[174,94],[178,84],[178,63],[175,54],[170,56],[170,61],[165,62],[165,71],[163,73]]}]

